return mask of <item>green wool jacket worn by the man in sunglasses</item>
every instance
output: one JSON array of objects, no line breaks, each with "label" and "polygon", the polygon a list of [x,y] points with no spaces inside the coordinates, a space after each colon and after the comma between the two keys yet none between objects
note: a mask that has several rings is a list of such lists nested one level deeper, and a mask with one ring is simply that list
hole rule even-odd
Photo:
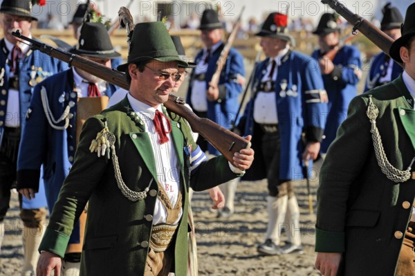
[{"label": "green wool jacket worn by the man in sunglasses", "polygon": [[[152,215],[158,185],[153,181],[147,198],[130,201],[117,185],[111,159],[89,151],[91,141],[104,128],[116,136],[116,155],[122,180],[130,190],[145,190],[151,179],[157,179],[154,154],[144,124],[134,118],[127,98],[100,115],[86,120],[75,154],[75,162],[64,181],[59,198],[50,215],[50,223],[39,250],[64,256],[73,224],[87,202],[88,217],[84,234],[81,273],[93,275],[143,275],[149,250]],[[174,120],[172,119],[174,118]],[[202,163],[189,176],[189,162],[184,147],[193,145],[190,127],[183,118],[169,113],[172,122],[172,140],[181,170],[183,216],[174,238],[175,273],[185,276],[187,270],[187,198],[189,186],[195,191],[236,178],[223,156]]]}]

